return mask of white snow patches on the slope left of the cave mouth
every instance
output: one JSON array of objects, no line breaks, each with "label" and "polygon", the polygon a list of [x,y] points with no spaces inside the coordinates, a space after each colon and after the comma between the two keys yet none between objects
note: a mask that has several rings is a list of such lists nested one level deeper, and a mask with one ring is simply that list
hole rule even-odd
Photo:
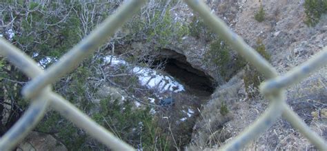
[{"label": "white snow patches on the slope left of the cave mouth", "polygon": [[[126,61],[118,59],[114,56],[106,56],[103,58],[105,63],[110,63],[110,65],[127,65]],[[173,77],[163,75],[151,68],[143,68],[136,66],[132,68],[132,73],[137,74],[139,77],[139,83],[147,88],[156,88],[159,92],[172,91],[181,92],[184,91],[184,86],[175,81]]]}]

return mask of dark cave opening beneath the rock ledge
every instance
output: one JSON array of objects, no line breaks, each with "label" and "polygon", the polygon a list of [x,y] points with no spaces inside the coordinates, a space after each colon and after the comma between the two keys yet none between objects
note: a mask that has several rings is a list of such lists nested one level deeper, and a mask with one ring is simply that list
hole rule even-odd
[{"label": "dark cave opening beneath the rock ledge", "polygon": [[163,49],[155,63],[165,62],[164,71],[175,77],[187,92],[199,97],[209,97],[215,90],[215,80],[205,72],[193,68],[183,54]]}]

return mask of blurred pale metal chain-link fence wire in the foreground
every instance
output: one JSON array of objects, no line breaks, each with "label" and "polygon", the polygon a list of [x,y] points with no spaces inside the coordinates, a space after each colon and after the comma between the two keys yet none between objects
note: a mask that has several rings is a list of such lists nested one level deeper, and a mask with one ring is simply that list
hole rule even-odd
[{"label": "blurred pale metal chain-link fence wire in the foreground", "polygon": [[[255,66],[268,79],[266,82],[261,83],[260,90],[270,100],[270,105],[257,121],[252,123],[252,125],[246,128],[244,132],[241,132],[235,139],[224,145],[222,150],[240,150],[244,145],[253,141],[265,130],[270,128],[276,119],[281,116],[289,121],[294,128],[297,128],[301,134],[304,134],[319,150],[327,150],[326,141],[310,130],[308,125],[290,109],[285,102],[286,95],[284,94],[286,86],[301,81],[308,77],[310,72],[317,70],[327,63],[327,47],[301,66],[291,70],[284,76],[278,76],[275,68],[253,48],[248,46],[241,37],[235,34],[235,32],[232,32],[224,21],[221,21],[219,17],[212,14],[210,8],[203,1],[185,1],[190,8],[199,13],[200,17],[204,19],[204,23],[212,28],[213,32],[217,33],[224,41],[227,41],[234,50],[237,50],[242,57],[250,62],[252,66]],[[17,66],[19,70],[27,74],[28,77],[32,78],[32,81],[22,90],[23,97],[25,99],[31,99],[32,103],[23,117],[1,137],[0,150],[10,150],[21,139],[26,137],[28,132],[46,114],[48,107],[59,111],[63,117],[75,123],[75,125],[88,132],[88,134],[105,144],[108,148],[112,150],[134,150],[130,145],[115,137],[114,134],[108,132],[108,130],[95,123],[95,121],[92,121],[90,117],[83,114],[83,112],[69,103],[69,101],[63,99],[59,94],[52,92],[50,84],[72,71],[77,64],[81,63],[83,58],[99,48],[145,2],[146,0],[130,0],[126,2],[115,14],[103,21],[88,37],[79,42],[77,46],[72,48],[72,50],[46,71],[41,70],[37,66],[37,63],[21,52],[21,50],[12,46],[6,40],[0,39],[0,54],[6,57],[14,66]]]}]

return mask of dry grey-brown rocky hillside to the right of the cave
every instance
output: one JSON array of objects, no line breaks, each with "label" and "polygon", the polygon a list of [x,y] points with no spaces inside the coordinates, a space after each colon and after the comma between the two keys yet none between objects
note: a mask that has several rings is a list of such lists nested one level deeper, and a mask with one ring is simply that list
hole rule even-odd
[{"label": "dry grey-brown rocky hillside to the right of the cave", "polygon": [[[213,2],[212,10],[228,2]],[[315,27],[308,27],[304,20],[304,1],[238,1],[233,3],[234,15],[215,11],[224,18],[230,28],[255,47],[257,39],[262,39],[270,54],[270,63],[280,74],[308,60],[327,43],[327,17]],[[260,6],[264,8],[264,21],[255,20]],[[232,7],[233,8],[233,7]],[[232,10],[232,9],[230,9]],[[327,138],[326,117],[315,117],[315,112],[324,110],[327,101],[327,69],[321,68],[305,81],[287,90],[287,103],[310,125],[313,130]],[[244,72],[239,72],[228,83],[220,85],[204,105],[201,115],[193,128],[189,149],[219,148],[226,141],[237,136],[265,110],[268,101],[260,95],[248,97],[244,84]],[[219,110],[227,104],[228,114]],[[217,112],[215,112],[217,111]],[[313,113],[313,114],[312,114]],[[290,124],[279,119],[273,128],[250,143],[246,150],[307,150],[313,148]]]}]

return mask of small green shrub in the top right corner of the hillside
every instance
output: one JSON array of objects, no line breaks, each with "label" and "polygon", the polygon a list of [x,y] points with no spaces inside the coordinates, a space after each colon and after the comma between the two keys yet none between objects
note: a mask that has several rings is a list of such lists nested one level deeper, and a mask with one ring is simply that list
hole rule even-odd
[{"label": "small green shrub in the top right corner of the hillside", "polygon": [[308,26],[315,26],[322,14],[327,13],[327,0],[306,0],[304,2],[306,20]]}]

